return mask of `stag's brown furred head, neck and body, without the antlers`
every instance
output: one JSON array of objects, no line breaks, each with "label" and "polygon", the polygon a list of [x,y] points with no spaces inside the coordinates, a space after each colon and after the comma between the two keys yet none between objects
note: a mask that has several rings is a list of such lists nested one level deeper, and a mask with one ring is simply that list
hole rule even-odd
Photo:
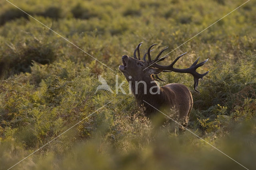
[{"label": "stag's brown furred head, neck and body, without the antlers", "polygon": [[[158,69],[148,67],[143,70],[147,65],[146,62],[138,61],[131,57],[122,57],[123,66],[119,69],[122,71],[126,80],[131,82],[131,90],[136,98],[138,107],[148,117],[152,117],[155,114],[161,114],[156,109],[166,113],[170,112],[170,109],[177,111],[178,121],[186,127],[188,124],[189,113],[193,106],[193,99],[188,88],[182,84],[172,83],[159,87],[152,74],[160,73]],[[136,82],[144,81],[146,83],[146,93],[144,93],[144,84],[138,85],[138,93],[136,94]],[[151,94],[150,88],[157,87],[160,90],[159,94]],[[157,91],[154,88],[153,92]],[[156,109],[150,105],[156,107]]]}]

